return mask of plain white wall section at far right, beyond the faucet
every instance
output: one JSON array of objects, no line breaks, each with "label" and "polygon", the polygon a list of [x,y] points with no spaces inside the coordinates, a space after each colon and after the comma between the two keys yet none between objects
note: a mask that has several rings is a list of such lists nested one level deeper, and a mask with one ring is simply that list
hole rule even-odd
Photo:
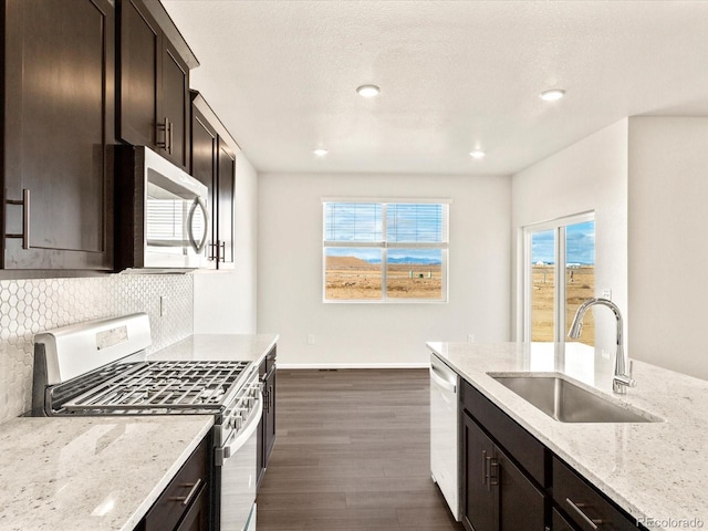
[{"label": "plain white wall section at far right, beyond the faucet", "polygon": [[631,354],[708,379],[708,118],[629,119]]}]

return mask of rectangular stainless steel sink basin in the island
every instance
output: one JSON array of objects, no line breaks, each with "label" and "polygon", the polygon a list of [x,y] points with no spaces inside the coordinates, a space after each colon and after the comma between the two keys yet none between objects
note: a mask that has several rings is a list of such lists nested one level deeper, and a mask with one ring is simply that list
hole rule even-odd
[{"label": "rectangular stainless steel sink basin in the island", "polygon": [[657,423],[662,420],[641,409],[590,393],[562,375],[488,374],[561,423]]}]

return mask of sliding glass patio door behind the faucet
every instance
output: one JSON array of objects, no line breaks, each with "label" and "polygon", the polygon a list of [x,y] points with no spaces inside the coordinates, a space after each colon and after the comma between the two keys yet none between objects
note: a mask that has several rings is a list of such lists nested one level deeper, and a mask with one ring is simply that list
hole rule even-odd
[{"label": "sliding glass patio door behind the faucet", "polygon": [[[577,306],[595,296],[593,214],[562,218],[524,230],[525,341],[565,341]],[[593,345],[592,313],[580,341]]]}]

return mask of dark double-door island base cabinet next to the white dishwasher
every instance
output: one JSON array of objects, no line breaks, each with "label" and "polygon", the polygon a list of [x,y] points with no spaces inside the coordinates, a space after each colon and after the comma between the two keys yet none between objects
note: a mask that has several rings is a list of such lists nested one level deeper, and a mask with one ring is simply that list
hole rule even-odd
[{"label": "dark double-door island base cabinet next to the white dishwasher", "polygon": [[462,414],[462,524],[469,531],[544,531],[545,496]]}]

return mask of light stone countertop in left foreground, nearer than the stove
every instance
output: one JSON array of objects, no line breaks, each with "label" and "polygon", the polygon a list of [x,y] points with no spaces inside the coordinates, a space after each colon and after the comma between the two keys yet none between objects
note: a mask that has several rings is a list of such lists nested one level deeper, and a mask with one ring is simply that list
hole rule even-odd
[{"label": "light stone countertop in left foreground, nearer than the stove", "polygon": [[0,426],[0,529],[132,531],[211,415],[19,417]]}]

